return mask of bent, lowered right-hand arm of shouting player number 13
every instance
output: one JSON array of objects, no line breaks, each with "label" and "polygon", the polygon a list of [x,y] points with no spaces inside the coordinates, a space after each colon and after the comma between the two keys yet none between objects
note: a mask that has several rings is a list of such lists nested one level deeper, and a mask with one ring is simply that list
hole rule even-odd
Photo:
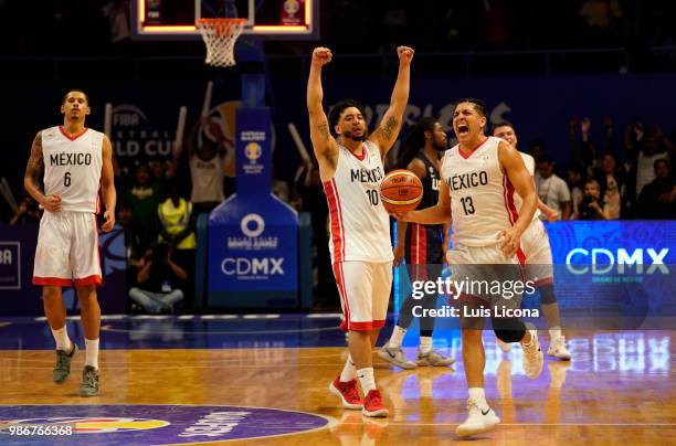
[{"label": "bent, lowered right-hand arm of shouting player number 13", "polygon": [[500,231],[498,235],[503,253],[507,257],[511,257],[519,247],[521,234],[532,221],[532,215],[538,206],[538,195],[535,191],[532,177],[528,173],[524,159],[514,147],[506,142],[500,142],[498,146],[498,158],[500,167],[507,178],[509,178],[509,182],[511,182],[516,192],[524,200],[524,204],[521,204],[519,210],[519,217],[511,229]]}]

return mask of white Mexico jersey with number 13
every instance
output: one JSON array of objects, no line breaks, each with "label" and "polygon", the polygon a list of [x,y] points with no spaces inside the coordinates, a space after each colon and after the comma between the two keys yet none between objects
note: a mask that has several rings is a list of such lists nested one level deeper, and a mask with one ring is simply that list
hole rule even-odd
[{"label": "white Mexico jersey with number 13", "polygon": [[518,219],[514,187],[500,170],[500,141],[487,137],[466,158],[460,146],[444,155],[441,173],[451,195],[454,244],[494,245],[498,233]]}]

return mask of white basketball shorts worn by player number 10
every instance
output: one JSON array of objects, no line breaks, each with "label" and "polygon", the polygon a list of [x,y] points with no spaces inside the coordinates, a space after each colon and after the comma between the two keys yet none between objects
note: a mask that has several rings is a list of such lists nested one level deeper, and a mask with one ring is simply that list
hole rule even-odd
[{"label": "white basketball shorts worn by player number 10", "polygon": [[334,276],[345,315],[345,331],[370,331],[384,326],[392,289],[392,262],[338,262]]}]

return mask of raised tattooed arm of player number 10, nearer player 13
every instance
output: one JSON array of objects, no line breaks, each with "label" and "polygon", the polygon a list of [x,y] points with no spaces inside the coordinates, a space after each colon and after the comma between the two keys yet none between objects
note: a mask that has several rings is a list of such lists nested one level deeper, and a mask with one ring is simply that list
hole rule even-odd
[{"label": "raised tattooed arm of player number 10, nearer player 13", "polygon": [[380,148],[380,153],[384,157],[394,145],[401,124],[403,113],[409,102],[409,89],[411,84],[411,61],[413,60],[413,49],[409,46],[399,46],[397,55],[399,56],[399,73],[397,74],[397,83],[392,89],[390,98],[390,107],[387,109],[378,128],[369,136],[369,140],[376,142]]}]

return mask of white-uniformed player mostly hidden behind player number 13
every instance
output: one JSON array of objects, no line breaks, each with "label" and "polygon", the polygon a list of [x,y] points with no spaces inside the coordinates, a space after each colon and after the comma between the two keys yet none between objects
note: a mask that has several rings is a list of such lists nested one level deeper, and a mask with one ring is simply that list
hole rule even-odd
[{"label": "white-uniformed player mostly hidden behind player number 13", "polygon": [[[493,136],[503,138],[507,144],[517,149],[518,138],[514,125],[510,123],[504,121],[495,125],[493,127]],[[524,158],[524,163],[530,177],[535,177],[535,159],[522,151],[519,151],[519,155]],[[515,199],[517,209],[520,209],[521,198],[517,195]],[[553,291],[551,247],[549,246],[547,230],[545,230],[545,225],[539,217],[540,211],[550,222],[560,220],[557,211],[538,199],[538,211],[534,214],[532,222],[530,222],[530,225],[521,236],[521,247],[524,248],[524,254],[526,254],[526,278],[532,280],[540,291],[542,312],[549,327],[549,348],[547,349],[547,354],[569,361],[570,352],[566,348],[566,337],[561,334],[559,304]],[[511,348],[511,344],[505,342],[498,342],[498,346],[505,352],[508,352]]]}]

